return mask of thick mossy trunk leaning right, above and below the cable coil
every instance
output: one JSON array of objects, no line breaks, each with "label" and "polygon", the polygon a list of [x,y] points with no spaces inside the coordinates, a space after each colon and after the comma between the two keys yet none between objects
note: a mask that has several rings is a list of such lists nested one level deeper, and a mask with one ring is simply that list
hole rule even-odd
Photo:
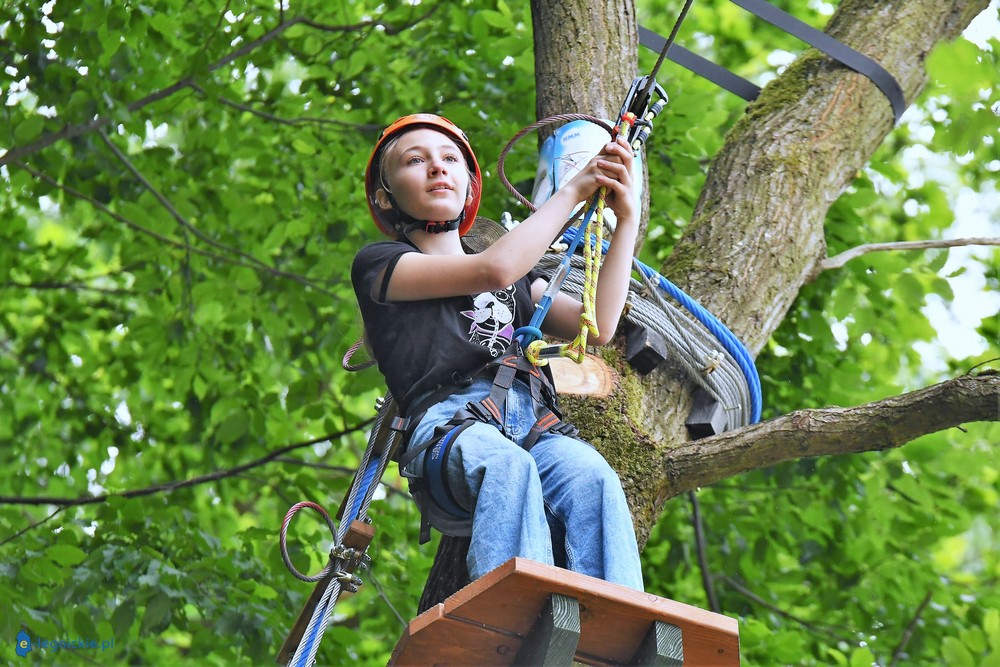
[{"label": "thick mossy trunk leaning right, above and below the cable coil", "polygon": [[[844,0],[827,32],[879,62],[909,101],[926,83],[928,52],[957,37],[987,4]],[[892,108],[874,83],[807,51],[730,131],[692,222],[661,272],[756,353],[826,257],[827,210],[892,127]],[[684,421],[693,384],[669,365],[638,378],[619,356],[604,353],[624,378],[617,398],[603,399],[603,406],[566,403],[570,419],[618,470],[644,544],[666,500],[694,486],[678,481],[671,459],[671,450],[689,439]],[[759,448],[749,451],[741,470],[773,463]],[[695,465],[707,475],[713,464],[705,458]],[[683,474],[704,476],[691,468]]]}]

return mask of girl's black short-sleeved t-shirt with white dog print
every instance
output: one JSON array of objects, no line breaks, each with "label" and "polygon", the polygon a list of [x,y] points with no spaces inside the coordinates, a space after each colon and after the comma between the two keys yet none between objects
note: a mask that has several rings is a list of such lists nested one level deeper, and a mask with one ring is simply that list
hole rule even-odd
[{"label": "girl's black short-sleeved t-shirt with white dog print", "polygon": [[[456,373],[478,370],[507,349],[514,330],[531,321],[531,282],[536,277],[532,272],[497,292],[386,301],[393,268],[408,252],[420,251],[401,241],[372,243],[358,252],[351,267],[368,343],[404,413],[414,398],[455,384]],[[378,280],[383,269],[385,276]]]}]

